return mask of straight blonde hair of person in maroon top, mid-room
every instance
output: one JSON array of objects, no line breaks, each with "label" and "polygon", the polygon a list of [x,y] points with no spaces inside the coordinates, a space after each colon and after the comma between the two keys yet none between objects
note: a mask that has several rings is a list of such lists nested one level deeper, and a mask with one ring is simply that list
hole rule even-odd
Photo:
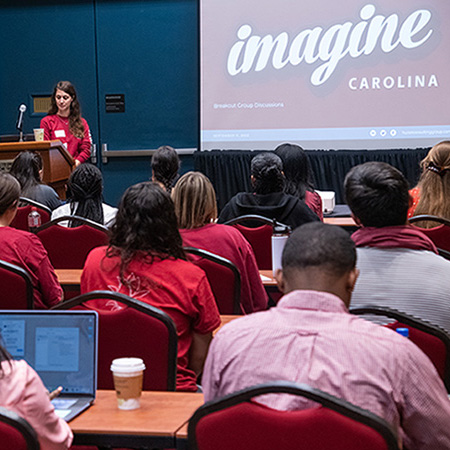
[{"label": "straight blonde hair of person in maroon top, mid-room", "polygon": [[172,190],[179,228],[199,228],[217,218],[216,193],[200,172],[184,174]]}]

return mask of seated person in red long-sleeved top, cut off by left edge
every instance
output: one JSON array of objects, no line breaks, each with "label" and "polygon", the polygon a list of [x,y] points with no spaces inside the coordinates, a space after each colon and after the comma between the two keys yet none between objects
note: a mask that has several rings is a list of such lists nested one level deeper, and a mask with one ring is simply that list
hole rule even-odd
[{"label": "seated person in red long-sleeved top, cut off by left edge", "polygon": [[61,301],[62,289],[47,251],[34,234],[9,226],[17,212],[19,195],[19,182],[8,173],[0,173],[0,259],[28,272],[35,308],[50,308]]}]

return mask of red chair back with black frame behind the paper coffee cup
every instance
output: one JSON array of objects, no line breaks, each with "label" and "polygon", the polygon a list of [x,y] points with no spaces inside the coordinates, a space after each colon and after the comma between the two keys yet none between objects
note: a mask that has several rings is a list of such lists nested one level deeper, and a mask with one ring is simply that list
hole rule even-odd
[{"label": "red chair back with black frame behind the paper coffee cup", "polygon": [[[106,310],[99,301],[117,302]],[[144,390],[174,391],[177,368],[177,331],[163,311],[118,292],[93,291],[52,309],[93,309],[99,316],[98,389],[114,389],[111,362],[116,358],[144,360]]]}]

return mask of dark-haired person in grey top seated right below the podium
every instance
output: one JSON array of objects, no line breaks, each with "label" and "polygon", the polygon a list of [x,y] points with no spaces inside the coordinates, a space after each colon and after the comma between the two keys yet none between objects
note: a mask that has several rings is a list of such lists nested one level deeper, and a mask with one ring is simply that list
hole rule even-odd
[{"label": "dark-haired person in grey top seated right below the podium", "polygon": [[61,199],[55,190],[42,183],[43,166],[39,153],[19,153],[15,157],[9,173],[20,183],[21,197],[35,200],[51,210],[61,205]]}]

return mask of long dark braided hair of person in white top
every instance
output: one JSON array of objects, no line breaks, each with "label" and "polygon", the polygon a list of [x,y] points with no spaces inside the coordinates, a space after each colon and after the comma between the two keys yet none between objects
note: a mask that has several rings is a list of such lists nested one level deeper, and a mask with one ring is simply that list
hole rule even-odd
[{"label": "long dark braided hair of person in white top", "polygon": [[[67,199],[72,215],[84,217],[103,225],[102,194],[102,173],[93,164],[81,164],[70,175],[67,183]],[[70,223],[71,227],[78,225],[76,221]]]}]

